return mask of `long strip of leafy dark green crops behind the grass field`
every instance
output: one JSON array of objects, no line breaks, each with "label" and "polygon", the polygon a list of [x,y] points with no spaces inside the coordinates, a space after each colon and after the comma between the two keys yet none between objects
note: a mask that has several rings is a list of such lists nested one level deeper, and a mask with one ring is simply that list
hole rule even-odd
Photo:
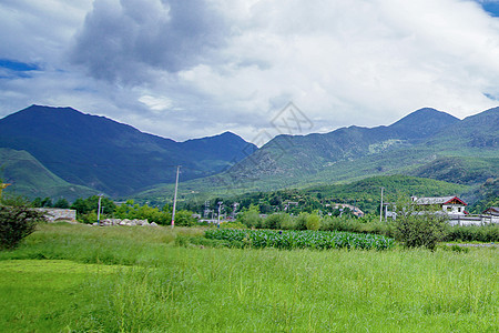
[{"label": "long strip of leafy dark green crops behind the grass field", "polygon": [[275,230],[231,230],[212,229],[205,238],[242,243],[256,249],[363,249],[386,250],[394,246],[394,240],[376,234],[328,231],[275,231]]}]

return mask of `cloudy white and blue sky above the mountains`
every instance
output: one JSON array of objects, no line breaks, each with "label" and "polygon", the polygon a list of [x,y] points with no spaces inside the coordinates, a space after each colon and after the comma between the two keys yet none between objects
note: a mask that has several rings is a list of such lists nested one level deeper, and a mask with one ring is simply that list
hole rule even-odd
[{"label": "cloudy white and blue sky above the mountains", "polygon": [[175,140],[499,105],[499,1],[0,0],[0,117],[72,107]]}]

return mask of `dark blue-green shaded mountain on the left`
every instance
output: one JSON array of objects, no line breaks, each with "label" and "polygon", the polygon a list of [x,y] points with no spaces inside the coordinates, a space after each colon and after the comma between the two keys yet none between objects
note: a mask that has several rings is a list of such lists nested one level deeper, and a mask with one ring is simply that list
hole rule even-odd
[{"label": "dark blue-green shaded mountain on the left", "polygon": [[256,150],[230,132],[175,142],[71,108],[39,105],[0,120],[0,148],[27,151],[62,180],[112,196],[174,182],[176,165],[184,180],[215,174]]}]

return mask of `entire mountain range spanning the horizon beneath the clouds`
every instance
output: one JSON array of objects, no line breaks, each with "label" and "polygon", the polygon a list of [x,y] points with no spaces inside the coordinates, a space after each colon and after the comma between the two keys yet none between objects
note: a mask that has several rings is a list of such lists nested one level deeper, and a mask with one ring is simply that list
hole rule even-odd
[{"label": "entire mountain range spanning the horizon beneath the clouds", "polygon": [[499,108],[464,120],[426,108],[386,127],[278,135],[261,149],[230,132],[175,142],[71,108],[31,105],[0,120],[3,178],[27,183],[21,192],[30,196],[27,174],[13,176],[14,159],[9,158],[20,151],[39,163],[37,170],[47,179],[58,179],[58,193],[84,190],[167,200],[179,164],[185,196],[348,183],[387,174],[479,186],[499,176],[498,145]]}]

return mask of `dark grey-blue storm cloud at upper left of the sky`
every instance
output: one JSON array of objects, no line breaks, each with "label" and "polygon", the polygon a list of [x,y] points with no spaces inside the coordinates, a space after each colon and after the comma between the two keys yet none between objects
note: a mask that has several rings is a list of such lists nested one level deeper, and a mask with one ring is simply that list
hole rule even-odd
[{"label": "dark grey-blue storm cloud at upper left of the sky", "polygon": [[96,0],[77,34],[73,63],[99,79],[141,81],[147,69],[177,72],[220,48],[228,24],[196,0]]}]

